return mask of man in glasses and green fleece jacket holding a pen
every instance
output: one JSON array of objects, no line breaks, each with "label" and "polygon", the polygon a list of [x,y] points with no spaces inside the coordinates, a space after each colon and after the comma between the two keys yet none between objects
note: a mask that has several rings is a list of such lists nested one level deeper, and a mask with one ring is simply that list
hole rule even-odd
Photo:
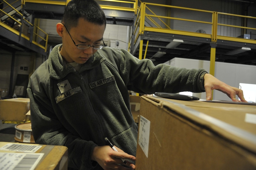
[{"label": "man in glasses and green fleece jacket holding a pen", "polygon": [[218,89],[233,101],[238,95],[246,102],[242,90],[203,69],[154,66],[124,49],[103,47],[105,27],[106,17],[95,1],[71,0],[57,24],[63,43],[52,49],[28,85],[35,141],[67,146],[69,169],[135,169],[138,127],[128,90],[206,91],[210,100],[211,90]]}]

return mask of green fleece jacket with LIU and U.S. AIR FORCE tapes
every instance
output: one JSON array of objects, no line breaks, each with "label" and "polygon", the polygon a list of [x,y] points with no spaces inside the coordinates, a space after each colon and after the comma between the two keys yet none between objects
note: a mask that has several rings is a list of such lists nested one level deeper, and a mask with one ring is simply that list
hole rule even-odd
[{"label": "green fleece jacket with LIU and U.S. AIR FORCE tapes", "polygon": [[99,49],[76,72],[60,64],[60,45],[30,77],[27,92],[35,142],[67,146],[68,166],[73,169],[102,169],[91,154],[95,146],[106,145],[105,137],[135,156],[138,127],[128,90],[143,94],[204,91],[199,77],[205,70],[154,66],[124,49]]}]

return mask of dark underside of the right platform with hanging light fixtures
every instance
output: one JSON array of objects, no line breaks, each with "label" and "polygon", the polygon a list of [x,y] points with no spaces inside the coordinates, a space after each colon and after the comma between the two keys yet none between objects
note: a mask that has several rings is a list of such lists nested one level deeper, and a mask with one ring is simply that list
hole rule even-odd
[{"label": "dark underside of the right platform with hanging light fixtures", "polygon": [[[144,58],[148,41],[146,58],[152,60],[155,65],[167,62],[176,57],[210,61],[211,47],[216,48],[215,61],[217,62],[256,65],[256,44],[230,41],[217,41],[217,43],[211,44],[207,39],[179,35],[161,35],[161,37],[170,38],[151,36],[149,41],[147,37],[143,39],[142,58]],[[168,47],[168,44],[175,40],[182,40],[182,42],[176,43],[175,47]],[[245,50],[242,50],[242,48]],[[137,48],[135,46],[135,51],[132,54],[139,58],[139,45]]]}]

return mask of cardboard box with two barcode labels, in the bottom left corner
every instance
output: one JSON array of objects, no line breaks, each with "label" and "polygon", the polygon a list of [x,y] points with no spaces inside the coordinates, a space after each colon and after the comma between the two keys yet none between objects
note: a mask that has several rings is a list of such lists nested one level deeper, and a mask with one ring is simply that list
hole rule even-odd
[{"label": "cardboard box with two barcode labels, in the bottom left corner", "polygon": [[3,170],[7,167],[13,169],[16,165],[20,169],[30,169],[32,166],[34,170],[67,169],[68,153],[65,146],[0,142],[0,155]]}]

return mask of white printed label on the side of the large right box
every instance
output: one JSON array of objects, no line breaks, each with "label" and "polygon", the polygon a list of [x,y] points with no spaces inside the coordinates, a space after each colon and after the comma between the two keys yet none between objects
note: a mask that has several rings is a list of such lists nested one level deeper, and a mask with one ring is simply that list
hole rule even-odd
[{"label": "white printed label on the side of the large right box", "polygon": [[140,115],[139,145],[148,157],[150,121]]}]

